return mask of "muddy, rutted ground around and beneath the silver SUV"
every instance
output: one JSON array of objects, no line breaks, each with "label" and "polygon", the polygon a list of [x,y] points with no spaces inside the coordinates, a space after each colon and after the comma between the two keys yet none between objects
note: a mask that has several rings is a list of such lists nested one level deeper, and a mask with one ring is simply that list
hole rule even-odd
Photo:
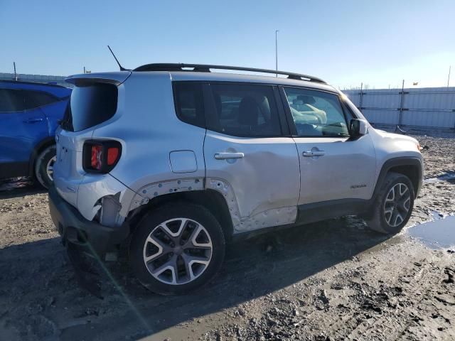
[{"label": "muddy, rutted ground around and beneath the silver SUV", "polygon": [[[428,178],[455,171],[455,134],[415,137]],[[355,217],[267,234],[229,247],[188,296],[157,296],[108,264],[102,300],[77,285],[47,193],[2,186],[1,340],[455,340],[455,226],[439,242],[412,237],[435,218],[454,225],[450,177],[424,184],[395,237]]]}]

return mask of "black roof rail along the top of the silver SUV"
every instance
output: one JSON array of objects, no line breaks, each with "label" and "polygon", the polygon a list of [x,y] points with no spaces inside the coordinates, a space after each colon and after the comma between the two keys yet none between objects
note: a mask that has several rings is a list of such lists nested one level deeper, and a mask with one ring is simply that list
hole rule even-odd
[{"label": "black roof rail along the top of the silver SUV", "polygon": [[[193,69],[193,70],[186,70]],[[210,72],[210,69],[215,70],[237,70],[237,71],[250,71],[259,73],[272,73],[278,75],[286,75],[291,80],[308,80],[310,82],[326,83],[321,78],[302,75],[295,72],[269,70],[269,69],[256,69],[254,67],[241,67],[241,66],[226,66],[226,65],[207,65],[207,64],[183,64],[183,63],[156,63],[146,64],[135,68],[133,71],[194,71],[194,72]]]}]

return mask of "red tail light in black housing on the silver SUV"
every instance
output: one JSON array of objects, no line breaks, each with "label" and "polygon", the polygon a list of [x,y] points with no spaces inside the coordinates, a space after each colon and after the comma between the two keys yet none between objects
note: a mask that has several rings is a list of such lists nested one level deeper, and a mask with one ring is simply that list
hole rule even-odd
[{"label": "red tail light in black housing on the silver SUV", "polygon": [[86,141],[82,167],[87,173],[109,173],[121,155],[122,145],[118,141]]}]

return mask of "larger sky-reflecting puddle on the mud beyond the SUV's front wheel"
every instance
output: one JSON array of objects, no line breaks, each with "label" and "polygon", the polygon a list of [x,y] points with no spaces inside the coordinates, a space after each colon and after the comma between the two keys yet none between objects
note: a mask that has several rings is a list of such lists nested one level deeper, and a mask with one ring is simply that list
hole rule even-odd
[{"label": "larger sky-reflecting puddle on the mud beyond the SUV's front wheel", "polygon": [[455,247],[455,216],[441,218],[437,212],[434,212],[433,217],[436,219],[432,222],[410,227],[408,229],[410,236],[419,239],[431,249]]}]

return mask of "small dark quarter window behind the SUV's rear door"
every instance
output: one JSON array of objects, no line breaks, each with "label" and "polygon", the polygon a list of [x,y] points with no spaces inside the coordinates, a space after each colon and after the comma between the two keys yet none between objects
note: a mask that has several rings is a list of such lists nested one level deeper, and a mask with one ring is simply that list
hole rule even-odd
[{"label": "small dark quarter window behind the SUV's rear door", "polygon": [[196,82],[174,82],[176,114],[181,121],[205,127],[202,85]]}]

